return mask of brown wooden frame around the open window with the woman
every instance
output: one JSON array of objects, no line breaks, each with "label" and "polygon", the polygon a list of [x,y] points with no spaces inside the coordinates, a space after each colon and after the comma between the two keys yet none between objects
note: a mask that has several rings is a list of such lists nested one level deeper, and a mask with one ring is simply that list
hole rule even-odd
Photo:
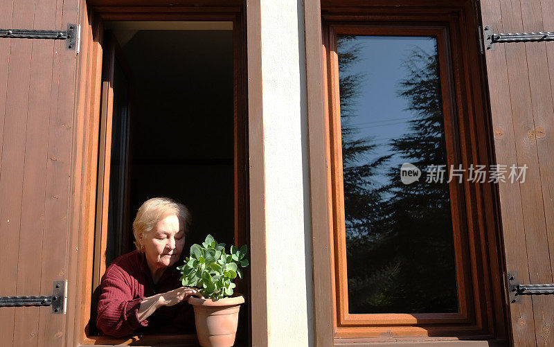
[{"label": "brown wooden frame around the open window with the woman", "polygon": [[[202,6],[199,4],[202,3]],[[96,190],[100,143],[102,36],[104,21],[232,21],[235,77],[235,242],[250,244],[250,272],[260,274],[244,281],[249,310],[249,341],[267,344],[267,293],[265,271],[265,193],[263,172],[263,133],[261,102],[261,42],[259,1],[167,1],[80,0],[82,43],[78,55],[78,78],[75,91],[75,124],[73,139],[75,157],[72,168],[73,202],[71,205],[68,310],[66,315],[67,346],[90,344],[125,344],[155,346],[158,344],[197,345],[196,335],[143,335],[114,339],[89,335],[91,293],[93,292],[94,233],[96,228]],[[246,17],[249,15],[249,22]],[[250,33],[247,36],[247,30]],[[247,51],[247,47],[249,48]],[[251,79],[247,78],[247,73]],[[248,94],[248,95],[247,95]],[[244,143],[244,152],[237,142]],[[253,148],[249,150],[249,148]],[[105,170],[103,170],[105,171]],[[100,172],[100,176],[103,172]],[[104,192],[105,189],[102,189]],[[103,194],[103,193],[102,193]],[[251,202],[251,204],[249,204]],[[250,237],[248,230],[256,229]],[[241,233],[240,231],[246,231]],[[246,278],[250,276],[247,274]],[[252,310],[252,307],[256,310]],[[254,314],[254,316],[252,316]]]}]

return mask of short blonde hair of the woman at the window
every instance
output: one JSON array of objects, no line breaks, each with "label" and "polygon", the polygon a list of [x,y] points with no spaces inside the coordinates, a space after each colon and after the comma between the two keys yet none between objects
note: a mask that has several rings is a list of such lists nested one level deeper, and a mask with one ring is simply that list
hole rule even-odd
[{"label": "short blonde hair of the woman at the window", "polygon": [[134,245],[139,252],[144,252],[142,240],[144,235],[154,229],[157,222],[167,215],[177,215],[185,224],[185,234],[190,229],[191,216],[185,205],[169,199],[168,197],[153,197],[146,200],[133,222]]}]

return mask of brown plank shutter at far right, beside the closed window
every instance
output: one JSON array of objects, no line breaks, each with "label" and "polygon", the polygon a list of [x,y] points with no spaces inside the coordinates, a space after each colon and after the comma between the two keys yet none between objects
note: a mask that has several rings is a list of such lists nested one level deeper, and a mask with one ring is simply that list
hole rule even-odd
[{"label": "brown plank shutter at far right, beside the closed window", "polygon": [[[552,0],[481,0],[497,33],[554,30]],[[501,183],[506,270],[519,283],[553,283],[554,42],[494,44],[486,55],[497,163],[526,164],[526,181]],[[515,346],[554,346],[554,296],[510,304]]]}]

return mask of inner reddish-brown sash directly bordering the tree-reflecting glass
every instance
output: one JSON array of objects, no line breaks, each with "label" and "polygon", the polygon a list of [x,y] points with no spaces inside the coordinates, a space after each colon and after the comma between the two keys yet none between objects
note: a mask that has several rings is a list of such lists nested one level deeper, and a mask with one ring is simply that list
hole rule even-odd
[{"label": "inner reddish-brown sash directly bordering the tree-reflecting glass", "polygon": [[[445,151],[447,167],[458,167],[461,164],[461,148],[458,141],[457,118],[461,111],[454,107],[454,90],[452,86],[452,66],[448,59],[449,41],[447,28],[444,26],[382,26],[362,24],[329,24],[328,40],[325,42],[328,57],[328,88],[330,114],[330,143],[332,168],[332,211],[334,221],[334,263],[337,290],[337,318],[340,326],[393,326],[429,323],[471,323],[474,319],[472,310],[473,293],[470,288],[470,274],[464,269],[469,267],[467,242],[467,213],[464,188],[456,180],[449,183],[450,206],[452,213],[453,247],[456,259],[456,283],[458,284],[458,313],[415,313],[415,314],[350,314],[348,312],[348,278],[346,275],[346,231],[344,216],[343,168],[341,151],[341,114],[339,96],[339,66],[337,61],[337,35],[364,36],[405,36],[435,37],[439,59],[439,78],[443,105],[445,127]],[[465,199],[463,198],[465,197]],[[472,231],[470,231],[472,232]]]}]

